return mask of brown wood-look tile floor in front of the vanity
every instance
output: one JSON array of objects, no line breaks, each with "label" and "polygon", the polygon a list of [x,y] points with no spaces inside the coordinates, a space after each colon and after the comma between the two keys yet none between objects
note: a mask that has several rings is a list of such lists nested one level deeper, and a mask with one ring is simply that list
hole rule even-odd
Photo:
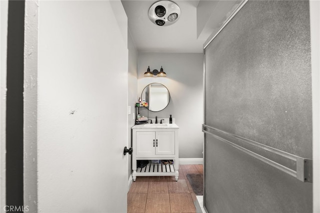
[{"label": "brown wood-look tile floor in front of the vanity", "polygon": [[203,166],[179,165],[174,176],[138,176],[127,194],[127,212],[195,212],[194,194],[187,173],[203,173]]}]

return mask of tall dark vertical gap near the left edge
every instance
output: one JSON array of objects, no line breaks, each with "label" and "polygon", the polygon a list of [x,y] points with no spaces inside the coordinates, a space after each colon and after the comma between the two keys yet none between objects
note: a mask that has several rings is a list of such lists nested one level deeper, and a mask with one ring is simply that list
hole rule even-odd
[{"label": "tall dark vertical gap near the left edge", "polygon": [[24,0],[8,1],[7,20],[5,204],[23,206]]}]

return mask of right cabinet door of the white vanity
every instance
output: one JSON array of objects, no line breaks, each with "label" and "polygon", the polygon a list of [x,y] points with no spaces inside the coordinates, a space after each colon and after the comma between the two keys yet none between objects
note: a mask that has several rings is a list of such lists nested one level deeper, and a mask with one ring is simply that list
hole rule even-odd
[{"label": "right cabinet door of the white vanity", "polygon": [[155,154],[174,154],[174,131],[157,131]]}]

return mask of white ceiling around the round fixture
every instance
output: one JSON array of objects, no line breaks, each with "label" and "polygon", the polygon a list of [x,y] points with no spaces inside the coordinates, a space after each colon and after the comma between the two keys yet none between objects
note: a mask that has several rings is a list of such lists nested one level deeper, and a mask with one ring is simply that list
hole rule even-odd
[{"label": "white ceiling around the round fixture", "polygon": [[174,0],[181,9],[181,16],[169,26],[158,26],[149,20],[149,7],[156,1],[121,0],[137,51],[202,52],[205,39],[198,40],[196,32],[196,7],[199,0]]}]

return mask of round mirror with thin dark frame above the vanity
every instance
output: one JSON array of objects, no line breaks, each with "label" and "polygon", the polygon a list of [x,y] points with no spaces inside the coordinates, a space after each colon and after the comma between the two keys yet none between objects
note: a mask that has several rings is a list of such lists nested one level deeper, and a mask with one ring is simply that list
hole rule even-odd
[{"label": "round mirror with thin dark frame above the vanity", "polygon": [[169,90],[161,83],[150,83],[144,87],[141,93],[142,100],[148,103],[150,111],[161,111],[170,101]]}]

